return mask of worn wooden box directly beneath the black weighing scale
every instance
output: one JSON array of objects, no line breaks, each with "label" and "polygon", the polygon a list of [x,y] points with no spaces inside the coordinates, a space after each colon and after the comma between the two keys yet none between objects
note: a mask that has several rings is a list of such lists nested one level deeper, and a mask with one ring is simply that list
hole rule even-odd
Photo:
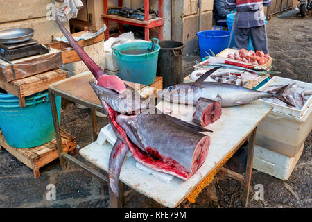
[{"label": "worn wooden box directly beneath the black weighing scale", "polygon": [[29,56],[10,62],[12,64],[0,60],[0,79],[7,83],[61,67],[62,53],[60,50],[51,49],[44,55]]}]

